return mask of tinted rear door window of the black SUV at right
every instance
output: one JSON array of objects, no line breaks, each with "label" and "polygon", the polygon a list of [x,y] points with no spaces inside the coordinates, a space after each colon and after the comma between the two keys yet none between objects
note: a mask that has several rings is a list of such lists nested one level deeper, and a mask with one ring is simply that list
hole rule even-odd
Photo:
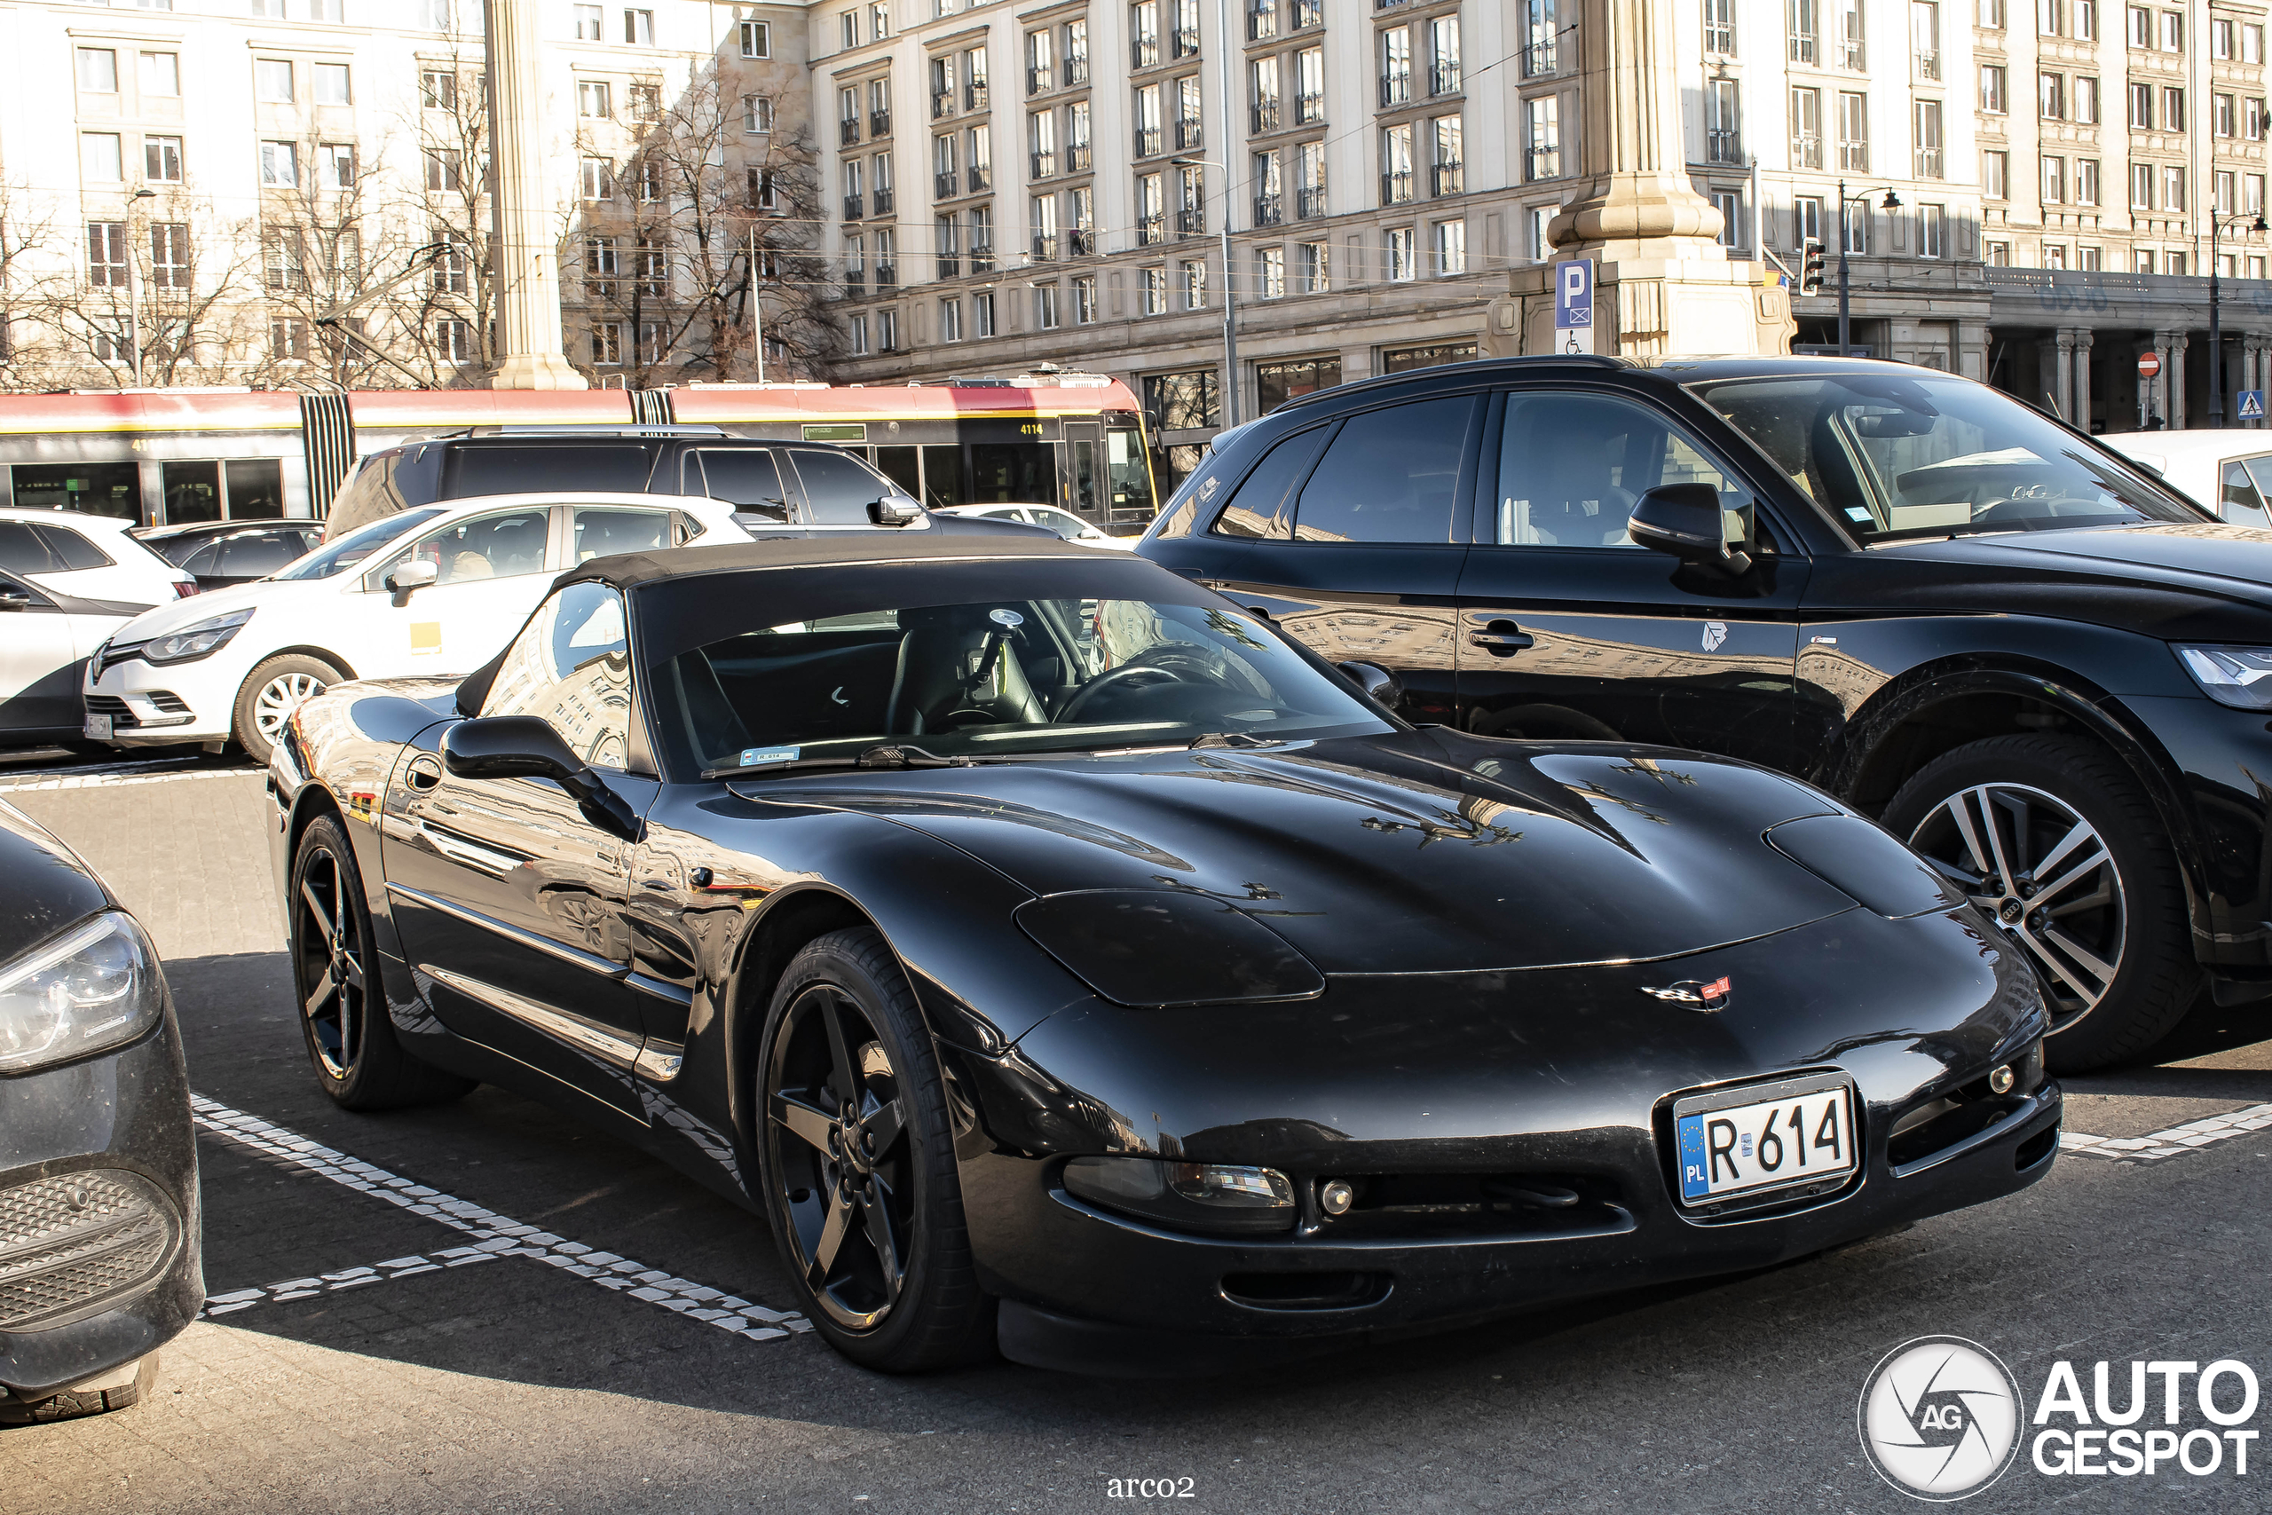
[{"label": "tinted rear door window of the black SUV at right", "polygon": [[1420,400],[1352,416],[1295,504],[1304,543],[1450,543],[1475,400]]}]

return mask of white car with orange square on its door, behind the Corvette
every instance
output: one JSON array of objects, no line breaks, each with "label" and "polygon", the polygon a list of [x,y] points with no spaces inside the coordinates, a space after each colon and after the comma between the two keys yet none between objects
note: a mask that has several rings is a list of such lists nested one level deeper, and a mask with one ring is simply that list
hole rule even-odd
[{"label": "white car with orange square on its door, behind the Corvette", "polygon": [[284,720],[329,684],[473,672],[575,563],[743,541],[732,504],[684,495],[488,495],[386,516],[268,579],[120,627],[86,661],[86,736],[234,736],[266,763]]}]

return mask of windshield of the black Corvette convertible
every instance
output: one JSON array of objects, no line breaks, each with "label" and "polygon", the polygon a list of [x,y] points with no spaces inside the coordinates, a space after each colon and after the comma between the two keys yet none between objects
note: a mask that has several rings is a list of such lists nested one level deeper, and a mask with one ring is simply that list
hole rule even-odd
[{"label": "windshield of the black Corvette convertible", "polygon": [[702,772],[1097,747],[1254,747],[1388,729],[1277,631],[1211,604],[982,600],[800,620],[654,668]]}]

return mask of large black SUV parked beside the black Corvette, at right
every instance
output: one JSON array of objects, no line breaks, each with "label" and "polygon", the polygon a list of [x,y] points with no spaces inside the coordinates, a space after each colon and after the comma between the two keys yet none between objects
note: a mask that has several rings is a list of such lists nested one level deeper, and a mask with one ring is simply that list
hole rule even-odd
[{"label": "large black SUV parked beside the black Corvette, at right", "polygon": [[2272,531],[1970,379],[1350,384],[1220,436],[1138,552],[1395,670],[1415,720],[1699,747],[1868,809],[2027,952],[2058,1068],[2204,988],[2272,995]]}]

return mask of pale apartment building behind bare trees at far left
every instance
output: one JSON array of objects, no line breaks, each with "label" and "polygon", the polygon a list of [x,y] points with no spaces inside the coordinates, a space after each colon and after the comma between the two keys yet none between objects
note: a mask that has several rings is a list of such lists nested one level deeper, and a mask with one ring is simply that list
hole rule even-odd
[{"label": "pale apartment building behind bare trees at far left", "polygon": [[[568,359],[593,384],[750,377],[754,266],[775,361],[816,368],[804,7],[541,20]],[[477,0],[0,9],[0,377],[484,384],[482,23]]]}]

